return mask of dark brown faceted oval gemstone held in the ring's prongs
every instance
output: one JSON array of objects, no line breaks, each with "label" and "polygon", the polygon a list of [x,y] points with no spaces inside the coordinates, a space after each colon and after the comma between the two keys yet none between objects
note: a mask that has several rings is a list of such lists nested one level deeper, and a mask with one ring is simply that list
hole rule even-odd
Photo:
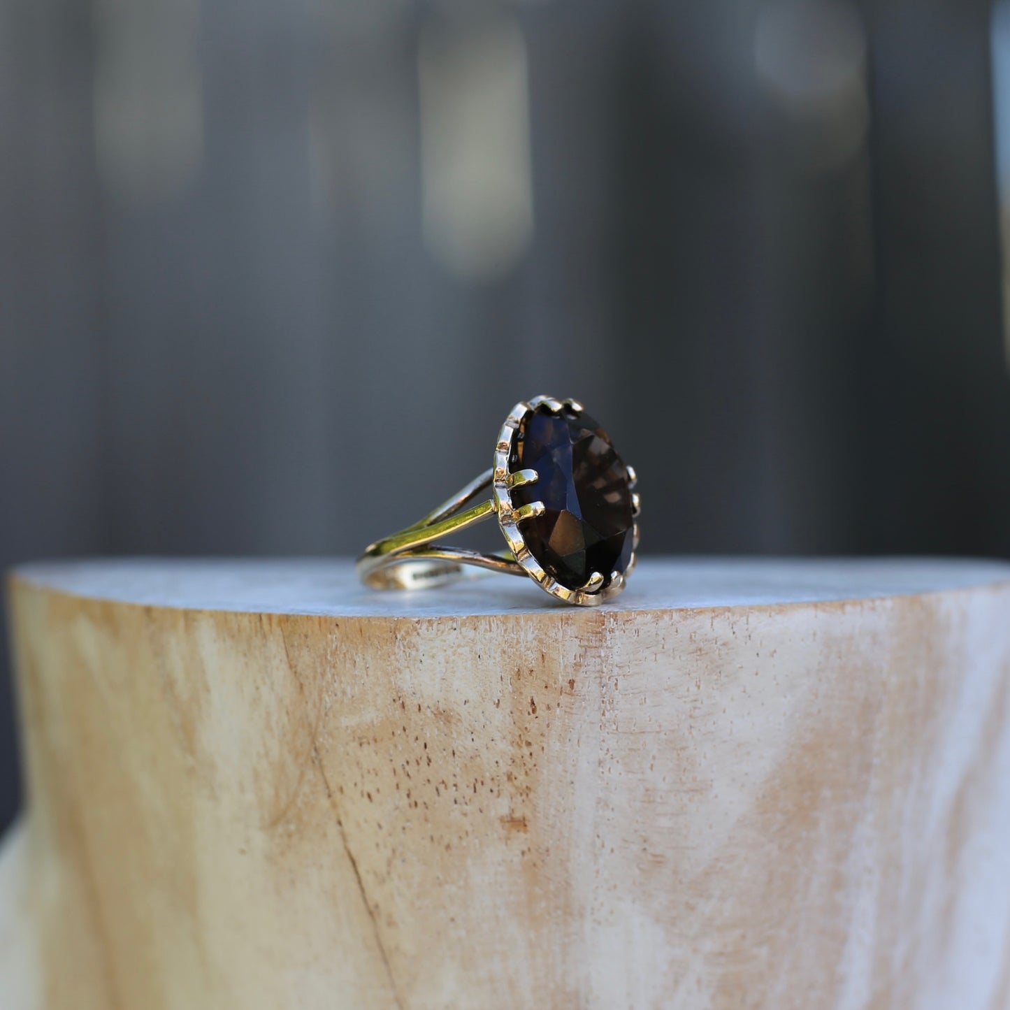
[{"label": "dark brown faceted oval gemstone held in the ring's prongs", "polygon": [[594,572],[609,583],[612,572],[627,570],[634,536],[628,472],[592,417],[537,407],[515,434],[509,469],[538,475],[512,492],[512,502],[543,502],[543,515],[524,519],[520,530],[545,572],[579,589]]}]

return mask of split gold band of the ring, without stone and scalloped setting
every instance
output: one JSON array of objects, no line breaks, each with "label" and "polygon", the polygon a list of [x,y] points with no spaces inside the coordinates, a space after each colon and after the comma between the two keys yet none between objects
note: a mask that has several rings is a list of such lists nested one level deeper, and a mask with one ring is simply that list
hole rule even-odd
[{"label": "split gold band of the ring, without stone and scalloped setting", "polygon": [[491,487],[493,476],[488,470],[413,526],[376,540],[358,559],[359,578],[372,589],[425,589],[464,578],[465,566],[525,577],[526,570],[511,551],[486,554],[432,543],[496,515],[493,499],[463,508]]}]

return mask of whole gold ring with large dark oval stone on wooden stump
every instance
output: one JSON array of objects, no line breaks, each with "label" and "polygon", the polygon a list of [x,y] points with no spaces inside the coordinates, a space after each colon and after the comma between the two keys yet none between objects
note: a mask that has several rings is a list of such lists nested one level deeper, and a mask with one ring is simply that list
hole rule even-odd
[{"label": "whole gold ring with large dark oval stone on wooden stump", "polygon": [[[422,589],[473,566],[528,577],[566,603],[596,606],[617,596],[634,569],[636,483],[578,400],[538,396],[505,419],[490,470],[414,525],[376,540],[358,559],[358,575],[373,589]],[[465,507],[488,489],[490,498]],[[492,517],[506,550],[433,542]]]}]

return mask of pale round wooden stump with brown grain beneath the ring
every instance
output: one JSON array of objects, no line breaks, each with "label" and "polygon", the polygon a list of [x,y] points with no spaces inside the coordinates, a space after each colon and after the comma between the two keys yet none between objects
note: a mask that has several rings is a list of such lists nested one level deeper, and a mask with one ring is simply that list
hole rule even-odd
[{"label": "pale round wooden stump with brown grain beneath the ring", "polygon": [[0,1006],[1010,1006],[1010,566],[21,570]]}]

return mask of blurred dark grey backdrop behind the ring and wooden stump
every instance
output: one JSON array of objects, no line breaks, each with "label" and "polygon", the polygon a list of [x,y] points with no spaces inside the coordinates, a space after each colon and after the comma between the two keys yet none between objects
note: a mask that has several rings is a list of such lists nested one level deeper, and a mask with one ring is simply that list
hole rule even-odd
[{"label": "blurred dark grey backdrop behind the ring and wooden stump", "polygon": [[0,0],[0,566],[356,553],[540,392],[647,552],[1010,557],[1004,23]]}]

